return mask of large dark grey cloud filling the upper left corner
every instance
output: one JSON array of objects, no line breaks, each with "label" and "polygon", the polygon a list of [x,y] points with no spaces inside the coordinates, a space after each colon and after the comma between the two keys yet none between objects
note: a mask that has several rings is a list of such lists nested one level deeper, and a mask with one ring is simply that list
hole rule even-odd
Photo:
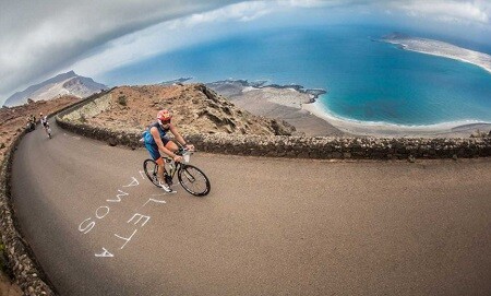
[{"label": "large dark grey cloud filling the upper left corner", "polygon": [[233,2],[238,1],[2,1],[0,99],[109,40]]}]

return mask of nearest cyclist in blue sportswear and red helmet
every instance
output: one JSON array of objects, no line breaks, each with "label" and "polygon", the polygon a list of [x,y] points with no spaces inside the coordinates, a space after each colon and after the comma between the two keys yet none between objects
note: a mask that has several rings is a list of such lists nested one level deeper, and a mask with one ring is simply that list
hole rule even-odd
[{"label": "nearest cyclist in blue sportswear and red helmet", "polygon": [[159,186],[167,192],[172,192],[169,185],[166,182],[164,176],[164,159],[161,158],[161,153],[168,155],[175,162],[181,162],[182,156],[176,155],[176,151],[179,150],[178,145],[170,141],[167,137],[167,132],[171,132],[176,138],[176,141],[181,145],[185,146],[188,150],[194,150],[194,145],[187,144],[182,135],[179,133],[177,128],[170,122],[172,119],[172,114],[167,110],[160,110],[157,114],[157,122],[148,127],[148,129],[143,132],[143,141],[145,143],[146,150],[149,152],[152,158],[158,164],[158,178]]}]

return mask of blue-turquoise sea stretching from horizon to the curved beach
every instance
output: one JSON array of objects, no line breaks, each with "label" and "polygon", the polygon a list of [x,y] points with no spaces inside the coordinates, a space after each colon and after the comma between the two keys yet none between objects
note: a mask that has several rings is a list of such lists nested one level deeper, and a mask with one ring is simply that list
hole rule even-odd
[{"label": "blue-turquoise sea stretching from horizon to the curved beach", "polygon": [[267,80],[325,88],[327,94],[319,98],[322,106],[349,120],[400,126],[491,122],[491,73],[373,40],[392,32],[355,26],[254,32],[156,56],[104,79],[115,84],[185,76],[199,82]]}]

